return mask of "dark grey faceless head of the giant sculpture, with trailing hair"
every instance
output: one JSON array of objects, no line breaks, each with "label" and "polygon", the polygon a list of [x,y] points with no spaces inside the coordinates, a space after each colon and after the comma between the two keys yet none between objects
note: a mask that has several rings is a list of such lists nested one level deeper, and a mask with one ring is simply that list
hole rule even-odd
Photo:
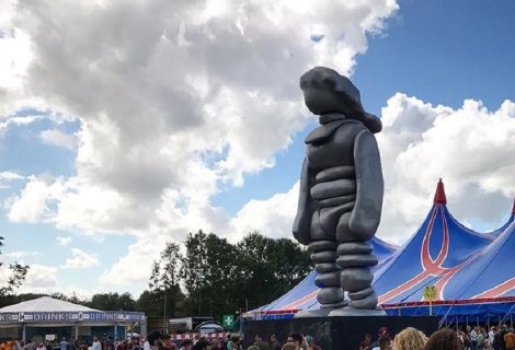
[{"label": "dark grey faceless head of the giant sculpture, with trailing hair", "polygon": [[316,67],[300,77],[306,106],[316,115],[342,113],[362,121],[371,132],[381,131],[381,119],[365,112],[359,90],[335,70]]}]

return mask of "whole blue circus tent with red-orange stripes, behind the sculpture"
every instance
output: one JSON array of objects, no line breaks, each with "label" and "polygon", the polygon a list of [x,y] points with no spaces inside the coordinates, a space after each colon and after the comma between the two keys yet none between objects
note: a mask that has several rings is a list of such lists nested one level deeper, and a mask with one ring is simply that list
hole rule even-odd
[{"label": "whole blue circus tent with red-orange stripes, behind the sculpture", "polygon": [[[460,224],[447,209],[444,184],[438,183],[434,203],[415,234],[400,248],[376,240],[379,256],[374,287],[389,314],[427,315],[424,288],[435,285],[438,299],[432,311],[443,322],[462,315],[505,317],[515,312],[515,202],[502,228],[478,233]],[[290,317],[318,308],[312,271],[276,301],[248,314],[250,317]],[[456,318],[459,319],[459,318]]]}]

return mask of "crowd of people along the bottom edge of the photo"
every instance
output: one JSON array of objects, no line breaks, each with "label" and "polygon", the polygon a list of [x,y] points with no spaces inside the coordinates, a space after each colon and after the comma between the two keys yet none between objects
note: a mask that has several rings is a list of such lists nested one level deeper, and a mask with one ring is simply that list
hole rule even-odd
[{"label": "crowd of people along the bottom edge of the photo", "polygon": [[[408,327],[394,336],[381,327],[377,338],[367,334],[359,345],[345,348],[356,350],[515,350],[515,332],[507,325],[492,326],[489,330],[480,326],[467,326],[455,330],[443,328],[430,337],[421,330]],[[9,339],[0,343],[0,350],[322,350],[310,335],[293,332],[281,341],[276,335],[264,339],[255,335],[251,345],[244,346],[243,337],[228,335],[226,338],[207,338],[197,335],[194,339],[173,340],[170,335],[151,331],[144,337],[113,339],[93,337],[87,339],[56,339],[36,343],[33,340]]]}]

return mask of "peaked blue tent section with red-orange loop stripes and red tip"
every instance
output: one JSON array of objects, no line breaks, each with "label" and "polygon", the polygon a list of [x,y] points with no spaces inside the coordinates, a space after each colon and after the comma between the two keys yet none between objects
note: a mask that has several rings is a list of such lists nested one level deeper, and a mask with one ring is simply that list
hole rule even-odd
[{"label": "peaked blue tent section with red-orange loop stripes and red tip", "polygon": [[374,288],[380,304],[417,302],[424,288],[435,284],[443,299],[454,270],[467,264],[494,236],[461,225],[446,207],[444,184],[438,183],[434,205],[419,231],[390,261],[375,272]]}]

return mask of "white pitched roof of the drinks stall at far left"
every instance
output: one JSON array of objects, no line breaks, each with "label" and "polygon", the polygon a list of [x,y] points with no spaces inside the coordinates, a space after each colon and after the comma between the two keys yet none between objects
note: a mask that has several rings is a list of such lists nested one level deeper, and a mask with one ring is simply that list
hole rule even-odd
[{"label": "white pitched roof of the drinks stall at far left", "polygon": [[65,302],[62,300],[42,296],[38,299],[28,300],[14,305],[9,305],[0,308],[0,313],[28,313],[28,312],[98,312],[88,306]]}]

